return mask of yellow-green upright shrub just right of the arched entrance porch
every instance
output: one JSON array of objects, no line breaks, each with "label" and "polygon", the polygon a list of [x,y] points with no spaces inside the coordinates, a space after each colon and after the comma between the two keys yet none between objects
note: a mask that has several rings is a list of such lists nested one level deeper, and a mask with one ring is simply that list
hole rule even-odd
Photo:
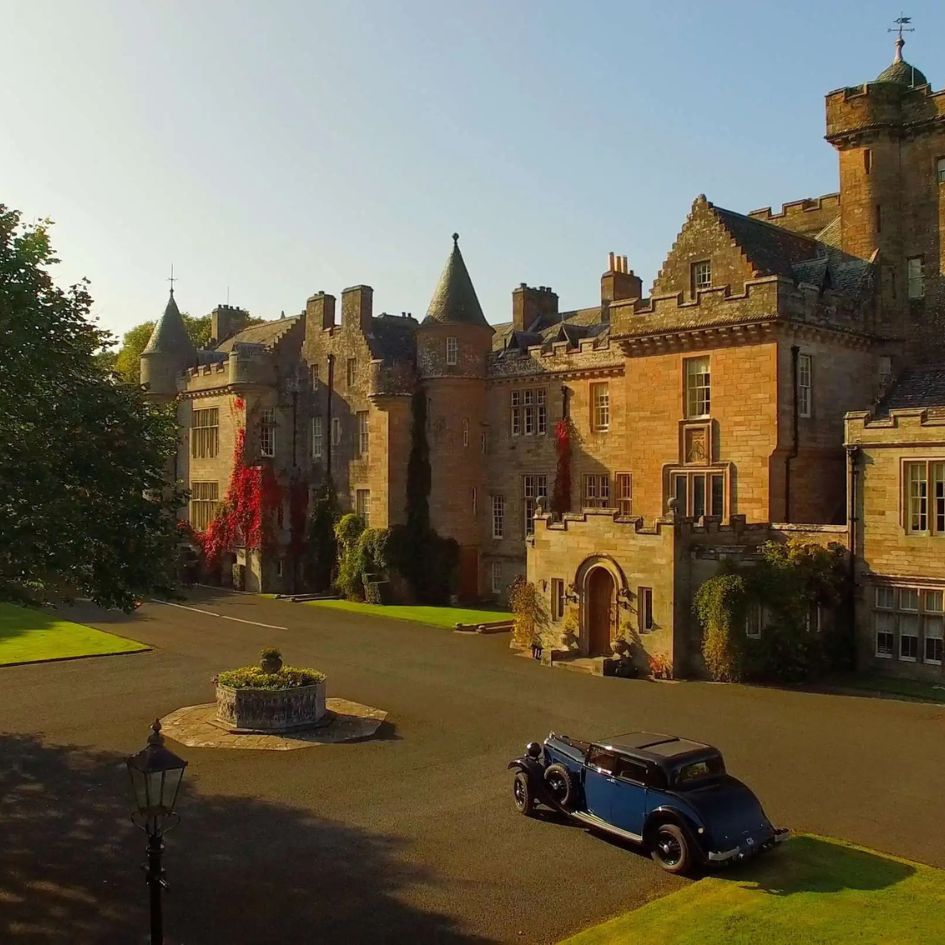
[{"label": "yellow-green upright shrub just right of the arched entrance porch", "polygon": [[709,675],[719,682],[744,677],[747,602],[740,574],[717,574],[696,591],[693,608],[702,624],[702,656]]}]

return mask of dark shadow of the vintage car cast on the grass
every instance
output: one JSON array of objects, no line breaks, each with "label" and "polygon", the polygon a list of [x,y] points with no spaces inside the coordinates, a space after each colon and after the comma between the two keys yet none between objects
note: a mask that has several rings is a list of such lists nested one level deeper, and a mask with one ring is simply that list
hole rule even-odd
[{"label": "dark shadow of the vintage car cast on the grass", "polygon": [[819,837],[793,837],[773,852],[715,875],[774,896],[793,893],[879,890],[908,879],[908,863],[831,843]]}]

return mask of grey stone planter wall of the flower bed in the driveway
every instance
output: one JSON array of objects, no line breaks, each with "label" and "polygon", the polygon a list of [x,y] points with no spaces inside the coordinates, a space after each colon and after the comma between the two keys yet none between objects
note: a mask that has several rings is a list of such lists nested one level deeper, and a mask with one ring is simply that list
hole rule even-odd
[{"label": "grey stone planter wall of the flower bed in the driveway", "polygon": [[325,680],[289,689],[232,689],[217,685],[217,721],[237,732],[291,732],[325,716]]}]

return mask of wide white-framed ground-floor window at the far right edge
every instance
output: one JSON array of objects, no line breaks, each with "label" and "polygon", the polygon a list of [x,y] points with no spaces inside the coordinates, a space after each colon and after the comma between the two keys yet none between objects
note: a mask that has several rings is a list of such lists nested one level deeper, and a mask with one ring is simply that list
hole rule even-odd
[{"label": "wide white-framed ground-floor window at the far right edge", "polygon": [[945,591],[877,585],[873,593],[876,656],[941,666],[945,648]]}]

